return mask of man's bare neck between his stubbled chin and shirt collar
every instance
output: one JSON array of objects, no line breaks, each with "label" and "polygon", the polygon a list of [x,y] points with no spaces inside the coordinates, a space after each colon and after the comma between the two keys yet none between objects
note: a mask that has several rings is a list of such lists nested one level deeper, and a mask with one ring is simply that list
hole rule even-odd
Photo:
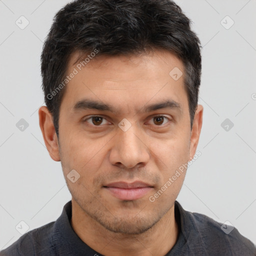
[{"label": "man's bare neck between his stubbled chin and shirt collar", "polygon": [[123,234],[107,230],[88,216],[72,199],[71,226],[89,247],[105,256],[163,256],[175,244],[178,224],[174,204],[149,230],[141,234]]}]

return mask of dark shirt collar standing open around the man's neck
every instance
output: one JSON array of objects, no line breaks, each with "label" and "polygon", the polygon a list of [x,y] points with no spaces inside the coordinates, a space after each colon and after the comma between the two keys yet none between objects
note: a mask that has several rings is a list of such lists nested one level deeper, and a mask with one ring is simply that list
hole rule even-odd
[{"label": "dark shirt collar standing open around the man's neck", "polygon": [[[180,255],[182,250],[184,252],[189,251],[189,255],[193,255],[191,253],[196,252],[196,256],[206,256],[207,252],[203,246],[204,243],[199,227],[195,224],[194,215],[184,210],[178,201],[174,202],[174,211],[175,219],[179,226],[179,235],[176,243],[166,255]],[[53,239],[56,253],[63,256],[83,256],[84,252],[86,252],[88,255],[97,254],[102,256],[102,254],[91,249],[74,232],[70,223],[71,216],[72,202],[70,200],[64,205],[61,215],[54,223]]]}]

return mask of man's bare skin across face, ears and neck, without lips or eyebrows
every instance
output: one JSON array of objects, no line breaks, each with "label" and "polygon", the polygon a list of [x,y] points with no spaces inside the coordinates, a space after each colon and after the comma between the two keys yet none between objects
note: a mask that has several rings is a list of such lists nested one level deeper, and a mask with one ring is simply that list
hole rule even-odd
[{"label": "man's bare skin across face, ears and neck, without lips or eyebrows", "polygon": [[[72,54],[68,74],[77,56],[78,52]],[[149,196],[193,158],[203,107],[198,105],[191,130],[184,75],[174,80],[169,75],[174,67],[184,74],[182,62],[165,50],[96,56],[66,85],[59,140],[47,108],[39,109],[45,145],[51,158],[61,161],[72,195],[71,225],[81,240],[103,255],[165,255],[177,240],[174,201],[186,171],[155,201]],[[83,99],[111,105],[117,112],[74,110]],[[179,103],[181,111],[141,110],[168,99]],[[103,118],[89,118],[92,115]],[[165,118],[157,119],[158,115]],[[123,118],[131,124],[126,131],[118,126]],[[74,183],[67,178],[72,169],[80,175]],[[116,181],[142,181],[151,187],[138,199],[123,200],[104,187]]]}]

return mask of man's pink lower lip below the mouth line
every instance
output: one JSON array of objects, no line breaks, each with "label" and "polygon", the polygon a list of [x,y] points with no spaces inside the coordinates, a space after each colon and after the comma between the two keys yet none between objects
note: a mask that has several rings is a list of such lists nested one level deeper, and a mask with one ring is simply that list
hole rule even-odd
[{"label": "man's pink lower lip below the mouth line", "polygon": [[105,187],[114,197],[120,200],[136,200],[148,193],[152,187],[119,188]]}]

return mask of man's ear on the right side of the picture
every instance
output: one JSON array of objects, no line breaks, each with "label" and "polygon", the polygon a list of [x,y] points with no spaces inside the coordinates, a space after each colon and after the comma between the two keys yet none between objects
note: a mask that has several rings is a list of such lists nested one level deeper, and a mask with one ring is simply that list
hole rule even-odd
[{"label": "man's ear on the right side of the picture", "polygon": [[197,105],[190,134],[189,160],[193,159],[202,127],[202,105]]}]

